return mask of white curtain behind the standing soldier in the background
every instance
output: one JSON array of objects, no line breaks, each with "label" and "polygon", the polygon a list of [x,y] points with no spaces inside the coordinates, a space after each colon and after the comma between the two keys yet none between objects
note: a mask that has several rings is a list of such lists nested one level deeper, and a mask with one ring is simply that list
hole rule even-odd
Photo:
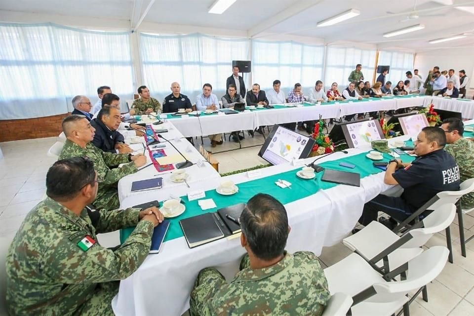
[{"label": "white curtain behind the standing soldier in the background", "polygon": [[349,75],[357,64],[362,65],[364,80],[372,82],[375,54],[375,49],[328,46],[324,85],[330,87],[332,82],[337,82],[339,90],[345,89],[349,85]]}]

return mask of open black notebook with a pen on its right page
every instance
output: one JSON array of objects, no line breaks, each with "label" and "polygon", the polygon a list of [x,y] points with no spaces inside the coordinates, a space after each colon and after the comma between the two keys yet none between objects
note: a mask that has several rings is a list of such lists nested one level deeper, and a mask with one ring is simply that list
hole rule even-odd
[{"label": "open black notebook with a pen on its right page", "polygon": [[240,225],[227,218],[240,217],[244,203],[224,207],[215,213],[205,213],[179,221],[190,248],[221,239],[240,232]]}]

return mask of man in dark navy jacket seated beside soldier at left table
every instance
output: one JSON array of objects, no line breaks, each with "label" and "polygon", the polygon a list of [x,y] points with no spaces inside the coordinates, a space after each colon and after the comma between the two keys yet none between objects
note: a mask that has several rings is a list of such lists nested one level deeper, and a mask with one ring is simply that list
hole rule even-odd
[{"label": "man in dark navy jacket seated beside soldier at left table", "polygon": [[107,153],[131,153],[130,147],[125,145],[123,135],[117,131],[120,122],[120,111],[110,105],[104,106],[97,118],[90,121],[95,128],[92,144]]}]

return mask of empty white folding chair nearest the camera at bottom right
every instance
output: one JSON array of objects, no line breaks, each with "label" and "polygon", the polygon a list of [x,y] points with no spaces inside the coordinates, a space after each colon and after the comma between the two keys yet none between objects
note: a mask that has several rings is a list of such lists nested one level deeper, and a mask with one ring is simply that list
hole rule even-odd
[{"label": "empty white folding chair nearest the camera at bottom right", "polygon": [[387,281],[393,276],[381,276],[356,253],[324,269],[324,274],[331,293],[353,297],[353,316],[390,316],[401,308],[407,315],[409,303],[414,300],[407,294],[433,281],[443,270],[448,255],[444,246],[425,250],[406,264],[406,278],[396,282]]}]

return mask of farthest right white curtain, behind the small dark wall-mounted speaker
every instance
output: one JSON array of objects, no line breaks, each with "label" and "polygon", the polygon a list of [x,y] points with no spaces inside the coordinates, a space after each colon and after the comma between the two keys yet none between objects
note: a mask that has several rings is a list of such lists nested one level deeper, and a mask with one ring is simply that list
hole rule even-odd
[{"label": "farthest right white curtain, behind the small dark wall-mounted speaker", "polygon": [[407,71],[413,74],[413,53],[381,50],[378,65],[390,66],[385,82],[392,81],[392,86],[395,87],[398,81],[405,81]]}]

